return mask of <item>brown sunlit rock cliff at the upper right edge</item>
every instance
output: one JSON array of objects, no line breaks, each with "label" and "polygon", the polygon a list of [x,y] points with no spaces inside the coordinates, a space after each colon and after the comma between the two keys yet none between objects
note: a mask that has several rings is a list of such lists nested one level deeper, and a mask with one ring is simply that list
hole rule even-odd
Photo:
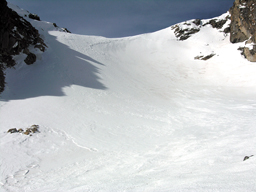
[{"label": "brown sunlit rock cliff at the upper right edge", "polygon": [[229,11],[231,14],[230,41],[232,43],[246,41],[246,46],[241,49],[242,54],[249,61],[256,62],[255,0],[235,0]]}]

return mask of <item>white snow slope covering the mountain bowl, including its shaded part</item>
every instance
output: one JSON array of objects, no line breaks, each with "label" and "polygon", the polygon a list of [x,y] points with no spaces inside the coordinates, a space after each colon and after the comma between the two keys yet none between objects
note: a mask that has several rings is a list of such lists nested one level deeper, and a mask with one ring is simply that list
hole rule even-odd
[{"label": "white snow slope covering the mountain bowl, including its shaded part", "polygon": [[[256,154],[244,43],[210,25],[178,41],[171,27],[107,39],[29,21],[48,49],[6,71],[1,191],[256,191],[256,160],[243,161]],[[31,136],[7,133],[33,124]]]}]

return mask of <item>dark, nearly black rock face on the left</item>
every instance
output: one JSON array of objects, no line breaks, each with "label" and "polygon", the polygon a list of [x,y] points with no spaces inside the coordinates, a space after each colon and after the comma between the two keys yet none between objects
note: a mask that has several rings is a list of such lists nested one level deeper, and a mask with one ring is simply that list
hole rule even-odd
[{"label": "dark, nearly black rock face on the left", "polygon": [[[13,67],[14,55],[23,52],[27,55],[25,62],[33,64],[36,55],[28,50],[30,45],[41,51],[46,45],[40,38],[38,31],[23,17],[7,7],[6,0],[0,1],[0,93],[5,87],[5,77],[3,70]],[[38,17],[39,18],[39,17]]]}]

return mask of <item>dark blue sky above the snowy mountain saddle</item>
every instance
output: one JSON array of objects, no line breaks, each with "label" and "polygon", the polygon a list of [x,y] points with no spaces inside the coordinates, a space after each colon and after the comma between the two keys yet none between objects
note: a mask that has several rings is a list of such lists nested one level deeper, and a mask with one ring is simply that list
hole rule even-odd
[{"label": "dark blue sky above the snowy mountain saddle", "polygon": [[228,11],[234,0],[7,0],[72,33],[124,37]]}]

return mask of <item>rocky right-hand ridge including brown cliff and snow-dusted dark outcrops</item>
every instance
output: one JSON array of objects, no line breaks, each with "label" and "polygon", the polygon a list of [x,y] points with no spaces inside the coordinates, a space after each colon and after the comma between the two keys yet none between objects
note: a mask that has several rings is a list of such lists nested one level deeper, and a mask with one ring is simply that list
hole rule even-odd
[{"label": "rocky right-hand ridge including brown cliff and snow-dusted dark outcrops", "polygon": [[[198,33],[202,27],[211,25],[220,32],[230,33],[231,43],[244,42],[239,50],[245,58],[256,62],[256,2],[255,0],[235,0],[229,10],[229,15],[224,19],[200,20],[195,19],[174,25],[172,29],[179,41],[190,38]],[[230,23],[228,26],[225,24]],[[202,56],[203,57],[203,56]],[[196,57],[195,59],[201,59]],[[208,58],[207,58],[208,59]],[[204,60],[204,59],[201,59]]]}]

